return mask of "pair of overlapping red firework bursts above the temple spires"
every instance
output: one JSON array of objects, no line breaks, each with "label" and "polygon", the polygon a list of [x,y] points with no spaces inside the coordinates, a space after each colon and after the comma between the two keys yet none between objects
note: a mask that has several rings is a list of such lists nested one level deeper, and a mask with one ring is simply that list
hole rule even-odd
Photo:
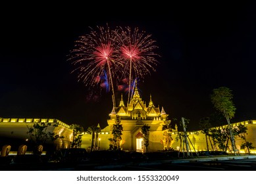
[{"label": "pair of overlapping red firework bursts above the temple spires", "polygon": [[[139,32],[138,28],[118,27],[111,30],[108,25],[97,26],[96,30],[91,28],[90,34],[80,36],[70,51],[68,60],[75,68],[71,73],[76,72],[78,81],[86,84],[90,91],[89,98],[93,97],[91,91],[99,91],[99,95],[103,89],[107,93],[112,91],[113,106],[116,106],[115,87],[118,90],[122,87],[128,91],[130,103],[132,80],[143,79],[151,71],[155,72],[156,57],[159,55],[153,52],[158,48],[154,44],[151,35]],[[119,82],[124,84],[122,79],[127,79],[126,87],[118,85]]]}]

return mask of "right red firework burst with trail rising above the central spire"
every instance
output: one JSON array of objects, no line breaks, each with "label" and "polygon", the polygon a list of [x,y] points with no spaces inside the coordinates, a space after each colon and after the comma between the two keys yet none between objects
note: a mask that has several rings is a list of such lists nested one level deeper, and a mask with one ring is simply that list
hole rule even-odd
[{"label": "right red firework burst with trail rising above the central spire", "polygon": [[159,56],[153,51],[158,47],[154,45],[155,41],[151,35],[145,35],[145,32],[139,32],[138,28],[132,30],[130,27],[120,28],[119,39],[120,60],[124,60],[124,76],[129,77],[128,103],[130,103],[130,91],[132,78],[143,78],[155,72],[157,66],[156,57]]}]

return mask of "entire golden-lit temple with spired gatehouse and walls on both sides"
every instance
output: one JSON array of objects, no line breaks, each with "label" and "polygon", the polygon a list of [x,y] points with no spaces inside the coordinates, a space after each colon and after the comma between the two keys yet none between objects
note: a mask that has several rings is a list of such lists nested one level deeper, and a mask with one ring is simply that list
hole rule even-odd
[{"label": "entire golden-lit temple with spired gatehouse and walls on both sides", "polygon": [[[93,147],[96,150],[108,150],[111,141],[109,139],[113,138],[112,129],[116,120],[120,120],[122,124],[122,140],[120,141],[120,147],[122,150],[126,151],[137,151],[145,152],[144,139],[141,127],[147,125],[149,129],[149,146],[147,151],[157,151],[165,150],[168,148],[174,150],[180,150],[182,143],[176,141],[176,137],[179,133],[178,126],[172,125],[174,129],[169,131],[171,137],[167,139],[167,130],[163,130],[163,126],[170,125],[172,122],[168,120],[168,114],[166,114],[163,106],[155,106],[153,103],[153,98],[149,97],[149,103],[145,103],[141,99],[138,92],[137,86],[134,89],[130,103],[125,104],[122,96],[118,106],[113,106],[109,113],[109,120],[107,120],[107,127],[101,127],[101,131],[97,135],[97,139],[93,140]],[[11,145],[13,151],[17,151],[18,145],[26,144],[28,141],[28,126],[31,126],[34,122],[49,122],[53,124],[58,124],[57,127],[49,127],[47,131],[55,132],[63,139],[57,139],[55,141],[55,148],[70,148],[72,142],[72,129],[57,119],[41,119],[41,118],[0,118],[0,151],[4,145]],[[232,124],[237,126],[238,124],[243,124],[247,127],[246,139],[248,142],[253,143],[256,147],[256,120],[247,120],[244,122],[238,122]],[[98,126],[100,126],[98,124]],[[205,134],[202,131],[188,131],[188,140],[191,151],[207,150]],[[12,142],[14,140],[14,142]],[[12,145],[15,143],[16,145]],[[82,145],[81,147],[87,150],[91,150],[92,136],[88,133],[82,135]],[[244,141],[239,137],[236,137],[236,148],[240,152],[246,152],[246,150],[240,149]],[[231,144],[230,144],[231,148]],[[209,147],[210,149],[210,147]],[[216,148],[218,149],[218,147]],[[255,153],[256,150],[250,150],[250,152]]]}]

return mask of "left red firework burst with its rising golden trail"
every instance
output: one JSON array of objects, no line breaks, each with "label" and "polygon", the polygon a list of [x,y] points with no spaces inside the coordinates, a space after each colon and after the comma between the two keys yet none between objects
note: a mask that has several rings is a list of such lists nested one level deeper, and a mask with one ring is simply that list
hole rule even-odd
[{"label": "left red firework burst with its rising golden trail", "polygon": [[78,81],[82,81],[89,88],[93,88],[102,83],[97,80],[99,76],[105,76],[110,84],[108,89],[113,93],[113,105],[115,106],[115,91],[113,78],[118,78],[117,72],[122,66],[118,62],[118,32],[117,29],[111,30],[97,26],[98,30],[91,28],[90,34],[82,35],[75,42],[74,49],[70,51],[68,60],[76,66],[73,72],[78,73]]}]

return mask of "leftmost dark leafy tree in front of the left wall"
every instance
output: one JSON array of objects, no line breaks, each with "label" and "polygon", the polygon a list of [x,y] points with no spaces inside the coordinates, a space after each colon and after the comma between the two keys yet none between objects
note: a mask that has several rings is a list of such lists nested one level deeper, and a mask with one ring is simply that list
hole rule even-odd
[{"label": "leftmost dark leafy tree in front of the left wall", "polygon": [[63,136],[59,136],[55,132],[47,131],[47,128],[50,126],[57,127],[58,124],[51,124],[45,122],[35,122],[32,126],[28,127],[28,135],[30,136],[30,143],[33,146],[33,153],[34,154],[41,154],[39,151],[39,145],[45,145],[47,141],[55,141],[56,139],[64,138]]}]

